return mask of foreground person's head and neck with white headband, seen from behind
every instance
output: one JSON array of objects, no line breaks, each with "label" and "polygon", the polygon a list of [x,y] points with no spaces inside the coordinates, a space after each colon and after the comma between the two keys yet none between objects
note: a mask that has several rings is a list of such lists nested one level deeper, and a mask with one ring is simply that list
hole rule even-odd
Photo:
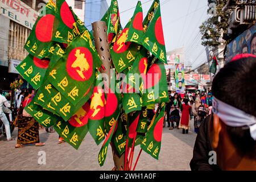
[{"label": "foreground person's head and neck with white headband, seen from behind", "polygon": [[[243,57],[226,64],[213,80],[212,94],[217,102],[213,103],[210,142],[221,169],[256,169],[249,166],[256,164],[256,141],[251,137],[246,119],[237,119],[238,112],[234,109],[256,117],[255,70],[256,58]],[[215,107],[222,109],[214,111]],[[225,115],[228,111],[229,115]],[[234,117],[227,122],[230,115]],[[242,123],[238,125],[238,122]]]}]

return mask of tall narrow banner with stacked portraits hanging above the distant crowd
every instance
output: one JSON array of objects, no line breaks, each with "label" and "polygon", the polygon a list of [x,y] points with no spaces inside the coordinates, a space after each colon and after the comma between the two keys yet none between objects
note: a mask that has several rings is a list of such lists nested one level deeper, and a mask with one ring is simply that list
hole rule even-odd
[{"label": "tall narrow banner with stacked portraits hanging above the distant crowd", "polygon": [[175,83],[176,83],[176,92],[179,94],[184,94],[185,93],[184,64],[175,65]]}]

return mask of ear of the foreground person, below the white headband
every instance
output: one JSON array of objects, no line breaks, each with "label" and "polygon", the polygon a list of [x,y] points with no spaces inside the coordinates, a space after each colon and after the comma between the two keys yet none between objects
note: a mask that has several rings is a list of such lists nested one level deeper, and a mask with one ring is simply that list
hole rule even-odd
[{"label": "ear of the foreground person, below the white headband", "polygon": [[221,121],[217,114],[213,114],[212,147],[214,150],[218,147],[220,139]]}]

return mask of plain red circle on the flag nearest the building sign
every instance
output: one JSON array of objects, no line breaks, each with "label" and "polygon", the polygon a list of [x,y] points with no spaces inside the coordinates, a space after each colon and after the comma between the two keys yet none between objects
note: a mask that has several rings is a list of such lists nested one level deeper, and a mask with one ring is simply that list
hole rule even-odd
[{"label": "plain red circle on the flag nearest the building sign", "polygon": [[36,24],[35,35],[40,42],[51,42],[54,18],[52,14],[47,14]]}]

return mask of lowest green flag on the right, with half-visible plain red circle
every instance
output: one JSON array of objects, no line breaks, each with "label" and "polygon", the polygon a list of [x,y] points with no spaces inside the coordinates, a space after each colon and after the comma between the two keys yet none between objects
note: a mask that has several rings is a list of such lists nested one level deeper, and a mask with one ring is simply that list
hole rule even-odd
[{"label": "lowest green flag on the right, with half-visible plain red circle", "polygon": [[148,127],[146,136],[141,143],[142,150],[150,154],[155,159],[158,159],[161,148],[164,108],[165,104],[162,103],[156,111],[154,119],[151,121],[151,125]]}]

